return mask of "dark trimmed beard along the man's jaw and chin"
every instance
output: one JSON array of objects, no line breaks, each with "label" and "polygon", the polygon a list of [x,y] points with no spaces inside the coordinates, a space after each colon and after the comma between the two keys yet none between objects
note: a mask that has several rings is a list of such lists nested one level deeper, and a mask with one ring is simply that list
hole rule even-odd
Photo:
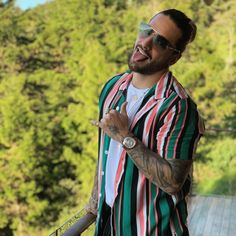
[{"label": "dark trimmed beard along the man's jaw and chin", "polygon": [[168,61],[159,61],[159,60],[154,61],[151,59],[146,59],[142,63],[132,61],[133,53],[134,51],[132,51],[128,55],[128,66],[129,69],[133,72],[137,72],[142,75],[152,75],[158,71],[162,71],[163,69],[169,67]]}]

